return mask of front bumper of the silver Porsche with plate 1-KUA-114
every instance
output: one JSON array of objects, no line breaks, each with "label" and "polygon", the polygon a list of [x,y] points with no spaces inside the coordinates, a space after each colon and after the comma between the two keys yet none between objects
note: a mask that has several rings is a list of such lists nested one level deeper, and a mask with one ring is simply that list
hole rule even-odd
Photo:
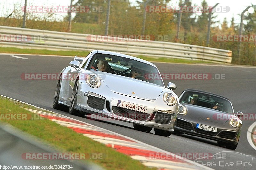
[{"label": "front bumper of the silver Porsche with plate 1-KUA-114", "polygon": [[[83,89],[86,89],[86,90],[83,90]],[[88,106],[87,100],[89,97],[84,95],[85,92],[96,93],[97,95],[99,95],[98,96],[99,100],[104,99],[104,108],[101,110],[101,109],[96,109]],[[140,119],[136,120],[130,117],[123,117],[123,116],[114,114],[112,107],[113,106],[117,107],[118,100],[146,106],[147,107],[146,114],[149,114],[149,116],[145,120],[140,120]],[[108,104],[107,102],[109,102],[108,108],[107,108],[107,104]],[[156,99],[156,100],[143,100],[143,99],[138,99],[131,96],[119,94],[116,92],[112,92],[107,87],[105,88],[104,86],[102,86],[100,90],[99,88],[98,89],[88,88],[87,84],[82,83],[79,85],[79,88],[78,88],[77,102],[76,102],[75,108],[77,110],[84,111],[87,113],[104,115],[105,117],[113,118],[114,120],[121,120],[124,122],[140,124],[140,125],[144,125],[144,126],[152,127],[156,129],[173,131],[174,123],[177,118],[178,101],[174,106],[168,106],[164,103],[162,98]],[[155,119],[158,114],[156,112],[159,110],[171,110],[175,113],[175,116],[171,116],[171,119],[167,124],[156,123]],[[153,117],[152,115],[154,113],[155,113],[155,116]],[[163,119],[165,119],[165,117],[163,117]]]}]

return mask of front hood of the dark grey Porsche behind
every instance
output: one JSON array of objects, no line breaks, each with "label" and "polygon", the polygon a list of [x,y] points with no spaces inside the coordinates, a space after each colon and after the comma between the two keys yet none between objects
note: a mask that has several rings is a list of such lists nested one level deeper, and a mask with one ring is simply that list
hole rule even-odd
[{"label": "front hood of the dark grey Porsche behind", "polygon": [[[188,114],[196,117],[197,119],[207,120],[216,123],[225,123],[234,115],[221,112],[219,110],[214,110],[210,108],[205,108],[201,106],[191,105],[182,103],[188,109]],[[209,120],[208,120],[208,119]]]}]

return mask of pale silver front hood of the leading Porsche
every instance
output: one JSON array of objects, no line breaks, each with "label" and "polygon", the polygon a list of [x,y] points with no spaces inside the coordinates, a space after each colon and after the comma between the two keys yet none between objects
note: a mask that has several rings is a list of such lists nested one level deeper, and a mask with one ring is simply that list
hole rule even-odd
[{"label": "pale silver front hood of the leading Porsche", "polygon": [[[94,70],[92,70],[92,72],[100,76],[101,80],[112,92],[123,95],[156,100],[164,91],[164,87],[142,80]],[[134,94],[132,92],[134,92]]]}]

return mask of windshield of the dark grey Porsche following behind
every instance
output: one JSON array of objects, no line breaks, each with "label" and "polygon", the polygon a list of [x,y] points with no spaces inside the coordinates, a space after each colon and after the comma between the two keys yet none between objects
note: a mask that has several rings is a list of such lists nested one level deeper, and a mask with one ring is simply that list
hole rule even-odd
[{"label": "windshield of the dark grey Porsche following behind", "polygon": [[182,95],[180,102],[233,114],[233,109],[229,100],[211,94],[201,92],[185,92]]}]

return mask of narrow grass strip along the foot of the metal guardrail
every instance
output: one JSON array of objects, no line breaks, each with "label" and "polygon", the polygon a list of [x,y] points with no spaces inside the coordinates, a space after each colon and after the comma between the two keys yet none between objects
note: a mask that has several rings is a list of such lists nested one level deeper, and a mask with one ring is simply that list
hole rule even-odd
[{"label": "narrow grass strip along the foot of the metal guardrail", "polygon": [[[51,51],[51,50],[40,50],[40,49],[20,49],[13,47],[0,47],[0,53],[15,53],[15,54],[41,54],[41,55],[65,55],[65,56],[80,56],[85,57],[90,51]],[[135,57],[141,58],[143,60],[152,62],[166,62],[166,63],[210,63],[205,61],[195,61],[195,60],[184,60],[184,59],[174,59],[165,57],[149,57],[144,55],[139,55]]]}]

